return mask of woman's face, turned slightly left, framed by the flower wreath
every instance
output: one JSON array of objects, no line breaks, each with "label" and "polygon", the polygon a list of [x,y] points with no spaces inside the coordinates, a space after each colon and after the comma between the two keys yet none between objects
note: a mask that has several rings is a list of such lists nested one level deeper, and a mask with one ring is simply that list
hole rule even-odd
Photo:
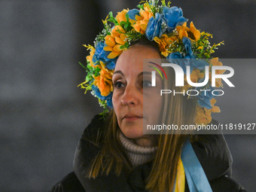
[{"label": "woman's face, turned slightly left, framed by the flower wreath", "polygon": [[[136,44],[119,56],[112,78],[112,101],[124,136],[140,141],[136,142],[138,145],[151,145],[152,137],[143,134],[143,121],[148,125],[158,122],[162,97],[160,90],[155,90],[160,86],[151,87],[152,68],[143,69],[143,59],[160,59],[160,54],[152,47]],[[162,84],[159,77],[156,81]],[[147,104],[145,106],[143,99]]]}]

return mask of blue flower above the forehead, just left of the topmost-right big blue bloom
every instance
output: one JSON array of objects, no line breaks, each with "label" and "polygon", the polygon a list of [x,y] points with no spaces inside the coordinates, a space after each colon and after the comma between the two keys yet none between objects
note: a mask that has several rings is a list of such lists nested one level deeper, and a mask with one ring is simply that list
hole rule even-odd
[{"label": "blue flower above the forehead, just left of the topmost-right big blue bloom", "polygon": [[155,17],[151,17],[148,20],[148,26],[145,31],[148,40],[153,41],[154,37],[160,38],[166,32],[166,29],[162,28],[165,25],[166,21],[163,19],[163,14],[157,13]]}]

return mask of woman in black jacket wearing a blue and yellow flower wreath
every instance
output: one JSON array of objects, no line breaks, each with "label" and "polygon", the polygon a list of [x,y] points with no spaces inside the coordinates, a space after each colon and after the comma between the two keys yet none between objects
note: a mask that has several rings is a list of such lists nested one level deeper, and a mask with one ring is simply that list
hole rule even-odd
[{"label": "woman in black jacket wearing a blue and yellow flower wreath", "polygon": [[[222,135],[145,133],[145,124],[215,123],[210,114],[218,108],[212,95],[200,91],[190,99],[182,94],[160,96],[162,89],[194,87],[187,81],[175,87],[175,73],[166,69],[168,81],[156,75],[153,86],[151,74],[160,65],[145,66],[144,59],[166,57],[182,69],[190,65],[195,83],[204,78],[207,63],[221,64],[210,59],[216,46],[209,47],[209,34],[200,33],[193,23],[185,26],[180,8],[153,1],[139,8],[123,10],[117,17],[110,14],[114,27],[105,20],[96,48],[89,46],[87,81],[81,87],[93,90],[105,113],[96,115],[84,130],[74,172],[51,191],[243,191],[230,178],[232,158]],[[194,61],[202,56],[207,62]],[[221,86],[221,81],[216,83]],[[207,86],[203,88],[213,89]],[[108,117],[107,105],[113,108]]]}]

